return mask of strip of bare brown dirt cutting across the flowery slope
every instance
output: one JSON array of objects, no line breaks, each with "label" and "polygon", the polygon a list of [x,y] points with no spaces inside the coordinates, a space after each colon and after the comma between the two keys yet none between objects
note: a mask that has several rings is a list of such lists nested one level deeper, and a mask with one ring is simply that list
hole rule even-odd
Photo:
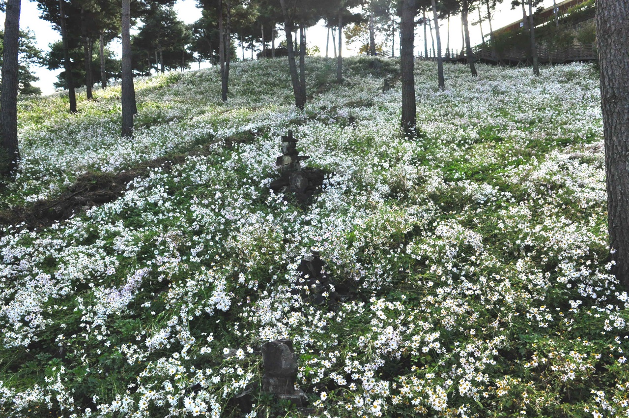
[{"label": "strip of bare brown dirt cutting across the flowery slope", "polygon": [[[224,142],[227,148],[231,148],[233,144],[250,142],[253,139],[255,139],[254,133],[245,132],[226,138]],[[133,179],[145,176],[150,169],[159,167],[164,171],[170,171],[173,166],[184,163],[191,155],[213,154],[215,151],[212,145],[214,144],[216,142],[182,154],[143,162],[132,169],[118,173],[88,172],[79,177],[60,196],[38,201],[33,205],[16,206],[0,211],[0,227],[20,223],[25,223],[29,230],[50,227],[53,223],[66,220],[76,213],[116,200],[125,193],[127,185]],[[0,237],[4,234],[5,232],[0,230]]]}]

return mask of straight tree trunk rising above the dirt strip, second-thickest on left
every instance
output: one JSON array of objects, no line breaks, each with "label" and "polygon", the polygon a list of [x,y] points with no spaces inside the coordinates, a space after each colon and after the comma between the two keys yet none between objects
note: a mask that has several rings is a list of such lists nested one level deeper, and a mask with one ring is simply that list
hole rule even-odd
[{"label": "straight tree trunk rising above the dirt strip, second-thickest on left", "polygon": [[122,136],[133,136],[135,90],[131,72],[131,0],[122,0]]}]

